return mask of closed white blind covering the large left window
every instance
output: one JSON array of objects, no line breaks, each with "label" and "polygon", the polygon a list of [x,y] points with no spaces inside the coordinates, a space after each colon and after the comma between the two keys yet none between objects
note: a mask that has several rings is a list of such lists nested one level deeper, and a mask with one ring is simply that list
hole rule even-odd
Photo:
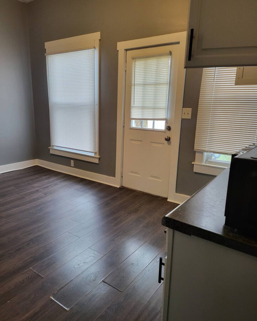
[{"label": "closed white blind covering the large left window", "polygon": [[47,56],[51,145],[96,152],[95,49]]}]

